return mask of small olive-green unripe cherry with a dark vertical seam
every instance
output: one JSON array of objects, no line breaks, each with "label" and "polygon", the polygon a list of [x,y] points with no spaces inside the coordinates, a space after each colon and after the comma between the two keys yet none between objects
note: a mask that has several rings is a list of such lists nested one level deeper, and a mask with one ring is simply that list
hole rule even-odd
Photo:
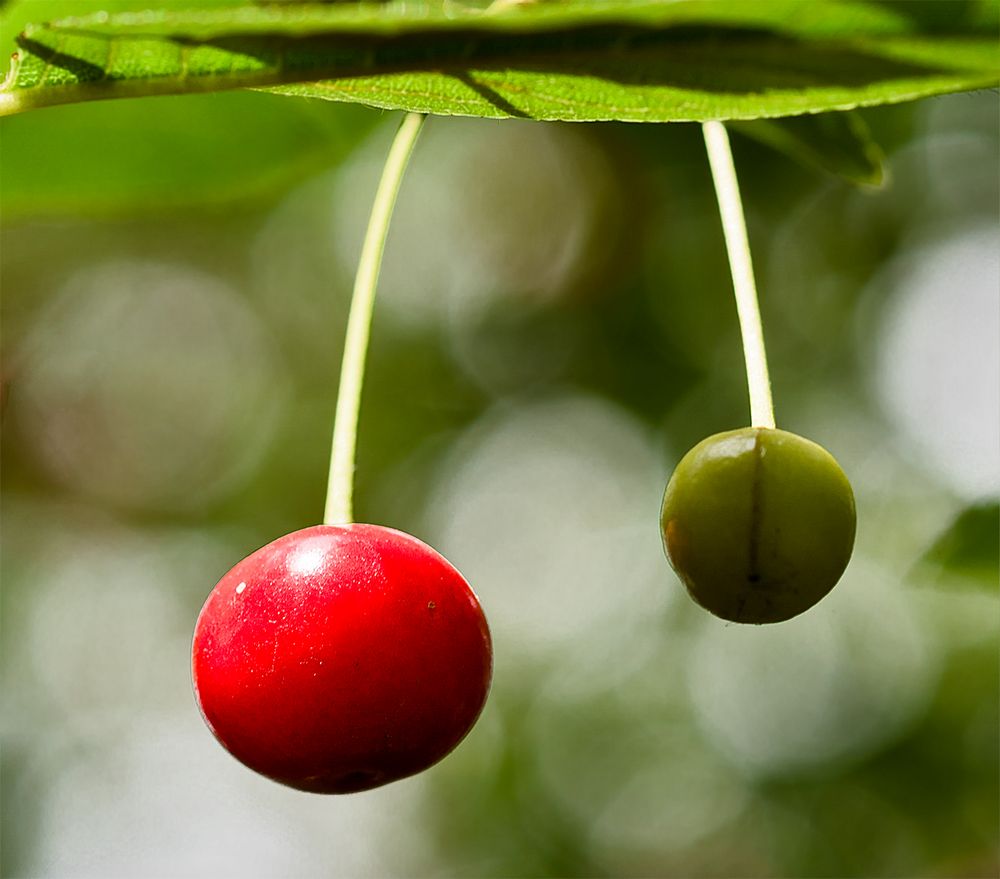
[{"label": "small olive-green unripe cherry with a dark vertical seam", "polygon": [[667,558],[691,597],[737,623],[781,622],[816,604],[847,567],[856,525],[833,456],[760,427],[698,443],[660,512]]}]

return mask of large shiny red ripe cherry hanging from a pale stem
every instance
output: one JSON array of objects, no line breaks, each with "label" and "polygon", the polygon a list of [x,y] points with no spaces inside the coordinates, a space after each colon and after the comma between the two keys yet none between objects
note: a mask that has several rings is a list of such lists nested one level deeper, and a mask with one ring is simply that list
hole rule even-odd
[{"label": "large shiny red ripe cherry hanging from a pale stem", "polygon": [[317,525],[257,550],[212,590],[192,646],[195,696],[219,742],[313,793],[436,763],[475,723],[492,666],[462,575],[378,525]]}]

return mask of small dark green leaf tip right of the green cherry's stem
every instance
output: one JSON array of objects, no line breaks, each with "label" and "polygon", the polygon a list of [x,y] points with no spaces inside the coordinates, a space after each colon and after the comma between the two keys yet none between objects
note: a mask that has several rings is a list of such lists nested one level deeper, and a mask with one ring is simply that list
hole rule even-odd
[{"label": "small dark green leaf tip right of the green cherry's stem", "polygon": [[734,131],[785,155],[864,186],[881,186],[885,156],[856,112],[732,122]]}]

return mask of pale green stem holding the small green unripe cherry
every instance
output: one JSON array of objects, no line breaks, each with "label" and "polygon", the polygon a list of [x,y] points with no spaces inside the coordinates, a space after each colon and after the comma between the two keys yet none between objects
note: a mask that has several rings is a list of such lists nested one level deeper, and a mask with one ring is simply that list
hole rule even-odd
[{"label": "pale green stem holding the small green unripe cherry", "polygon": [[774,427],[774,401],[771,399],[771,379],[767,372],[764,350],[764,328],[757,303],[757,287],[753,279],[750,242],[747,240],[743,202],[736,181],[736,167],[729,148],[729,135],[721,122],[702,124],[708,162],[712,166],[715,195],[719,201],[722,231],[729,253],[729,270],[733,275],[736,313],[743,337],[743,358],[747,368],[747,388],[750,392],[750,426]]}]

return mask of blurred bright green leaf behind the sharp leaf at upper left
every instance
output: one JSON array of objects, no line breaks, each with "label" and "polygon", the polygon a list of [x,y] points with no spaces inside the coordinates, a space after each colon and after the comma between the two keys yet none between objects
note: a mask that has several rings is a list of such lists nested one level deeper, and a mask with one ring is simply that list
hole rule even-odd
[{"label": "blurred bright green leaf behind the sharp leaf at upper left", "polygon": [[[149,0],[100,0],[118,11]],[[177,8],[232,0],[158,0]],[[0,50],[32,15],[93,11],[95,0],[15,0],[0,15]],[[3,119],[5,223],[52,216],[120,217],[217,204],[253,207],[328,168],[377,117],[356,105],[263,92],[105,101]]]}]

